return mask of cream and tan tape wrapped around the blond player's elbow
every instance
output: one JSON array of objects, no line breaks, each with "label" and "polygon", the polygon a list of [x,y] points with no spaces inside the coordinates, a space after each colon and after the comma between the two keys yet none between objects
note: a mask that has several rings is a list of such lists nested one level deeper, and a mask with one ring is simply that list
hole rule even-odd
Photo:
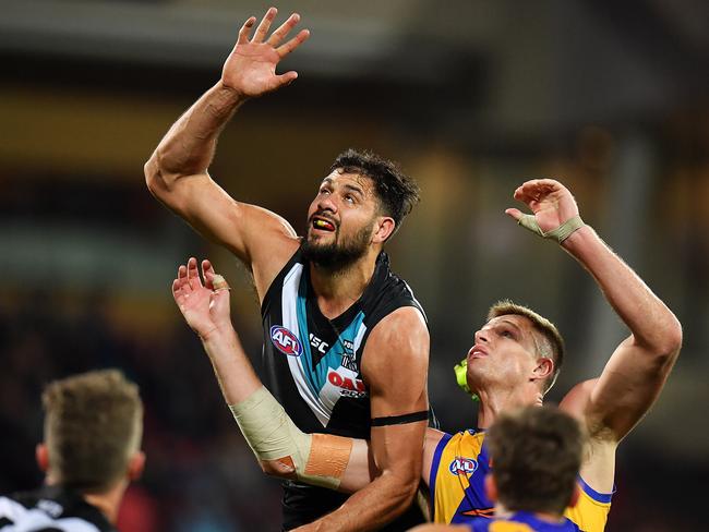
[{"label": "cream and tan tape wrapped around the blond player's elbow", "polygon": [[339,487],[352,451],[351,438],[304,434],[265,387],[229,409],[259,460],[292,463],[299,481]]}]

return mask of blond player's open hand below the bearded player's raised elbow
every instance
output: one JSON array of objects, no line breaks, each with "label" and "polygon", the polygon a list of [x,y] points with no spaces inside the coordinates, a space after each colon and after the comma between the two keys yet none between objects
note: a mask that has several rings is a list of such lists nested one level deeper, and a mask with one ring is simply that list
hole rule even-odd
[{"label": "blond player's open hand below the bearded player's raised elbow", "polygon": [[202,261],[202,277],[197,271],[197,259],[190,257],[187,266],[178,268],[172,281],[172,297],[184,321],[200,337],[231,326],[229,287],[221,276],[214,271],[209,261]]}]

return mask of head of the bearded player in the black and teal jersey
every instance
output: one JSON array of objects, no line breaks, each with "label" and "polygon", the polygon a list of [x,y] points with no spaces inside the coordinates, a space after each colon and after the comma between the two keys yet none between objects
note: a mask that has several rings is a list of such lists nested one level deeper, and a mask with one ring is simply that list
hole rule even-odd
[{"label": "head of the bearded player in the black and teal jersey", "polygon": [[418,186],[396,164],[348,149],[337,156],[310,205],[303,251],[333,270],[376,256],[418,201]]}]

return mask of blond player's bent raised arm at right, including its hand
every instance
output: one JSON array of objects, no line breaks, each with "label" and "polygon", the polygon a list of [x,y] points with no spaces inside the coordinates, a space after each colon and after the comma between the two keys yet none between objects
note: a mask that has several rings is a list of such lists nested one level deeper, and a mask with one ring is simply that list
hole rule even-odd
[{"label": "blond player's bent raised arm at right, including its hand", "polygon": [[[528,181],[515,191],[515,198],[531,208],[545,233],[578,216],[576,201],[557,181]],[[517,209],[507,209],[507,214],[517,220],[522,218]],[[680,353],[682,327],[593,229],[574,227],[570,222],[570,235],[563,240],[562,247],[593,276],[630,336],[615,349],[601,376],[574,388],[562,408],[586,421],[592,439],[617,443],[658,398]]]}]

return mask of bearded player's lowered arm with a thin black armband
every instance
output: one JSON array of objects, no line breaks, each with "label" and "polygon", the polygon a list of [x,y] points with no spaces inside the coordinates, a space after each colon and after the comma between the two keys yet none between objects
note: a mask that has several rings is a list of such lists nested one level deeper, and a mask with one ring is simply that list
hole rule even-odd
[{"label": "bearded player's lowered arm with a thin black armband", "polygon": [[[429,332],[417,310],[399,309],[376,325],[362,359],[373,419],[428,409],[428,362]],[[334,512],[297,530],[375,530],[402,513],[419,485],[425,430],[425,421],[372,427],[378,476]]]}]

